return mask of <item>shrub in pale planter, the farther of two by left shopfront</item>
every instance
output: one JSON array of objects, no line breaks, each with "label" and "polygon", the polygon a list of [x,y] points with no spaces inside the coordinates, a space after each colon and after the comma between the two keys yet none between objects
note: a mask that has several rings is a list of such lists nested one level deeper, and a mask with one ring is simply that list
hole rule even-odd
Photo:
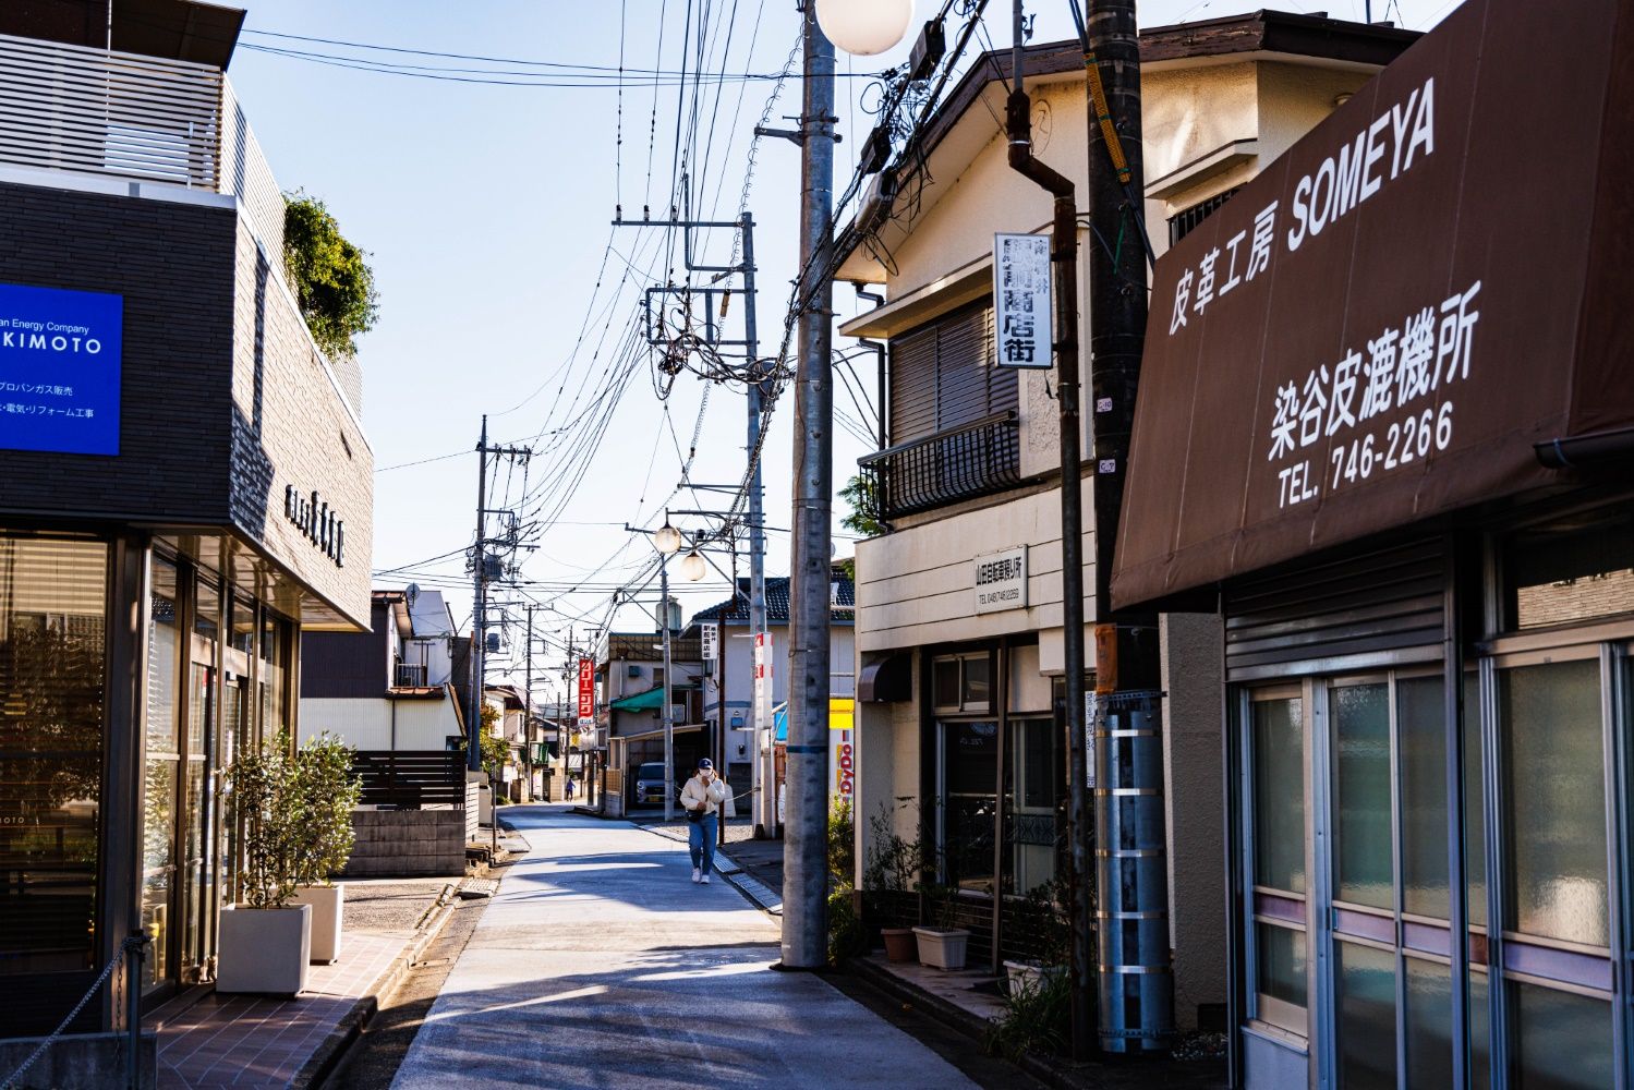
[{"label": "shrub in pale planter, the farther of two by left shopfront", "polygon": [[306,822],[296,856],[296,894],[289,904],[312,905],[312,961],[340,959],[346,886],[333,876],[346,868],[356,832],[351,812],[363,780],[351,775],[353,747],[327,730],[296,752],[296,793]]}]

